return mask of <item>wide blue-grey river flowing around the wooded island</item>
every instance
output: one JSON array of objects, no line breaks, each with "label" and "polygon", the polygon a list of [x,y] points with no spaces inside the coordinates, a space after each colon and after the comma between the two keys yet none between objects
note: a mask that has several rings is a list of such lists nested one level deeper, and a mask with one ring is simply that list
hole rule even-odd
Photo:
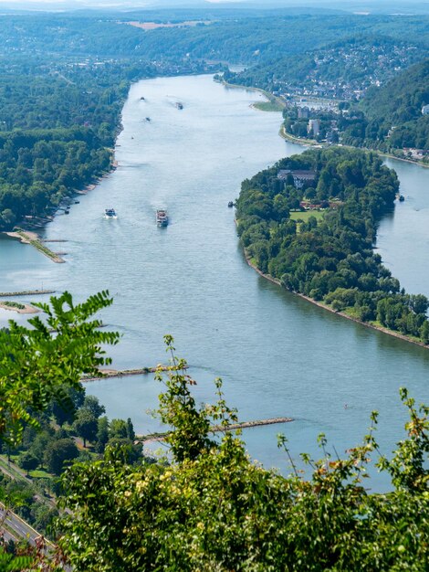
[{"label": "wide blue-grey river flowing around the wooded island", "polygon": [[[319,454],[319,432],[342,453],[360,442],[373,409],[380,411],[378,438],[387,453],[403,436],[399,387],[429,401],[429,352],[325,312],[247,266],[227,202],[238,196],[243,179],[303,151],[277,135],[278,113],[250,107],[260,98],[209,76],[133,85],[117,170],[45,230],[46,238],[67,240],[53,243],[68,252],[67,263],[3,238],[0,290],[67,289],[83,300],[109,289],[114,304],[103,320],[122,334],[110,349],[114,366],[165,363],[162,336],[173,334],[198,382],[199,400],[214,399],[212,381],[220,376],[242,420],[295,419],[244,432],[249,453],[266,466],[288,471],[278,432],[287,434],[295,459],[301,451]],[[382,220],[377,247],[408,291],[429,295],[429,170],[387,164],[396,169],[406,200]],[[106,220],[106,207],[119,217]],[[168,228],[155,225],[158,207],[168,209]],[[16,315],[0,311],[0,325],[11,317],[25,321]],[[160,390],[152,376],[87,387],[110,418],[131,417],[140,433],[160,428],[149,413]],[[387,487],[383,475],[373,474],[372,490]]]}]

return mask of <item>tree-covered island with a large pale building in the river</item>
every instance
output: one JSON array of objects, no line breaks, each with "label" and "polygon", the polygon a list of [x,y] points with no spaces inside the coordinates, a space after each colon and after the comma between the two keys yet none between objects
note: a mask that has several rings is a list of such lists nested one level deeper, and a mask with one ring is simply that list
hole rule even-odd
[{"label": "tree-covered island with a large pale building in the river", "polygon": [[398,189],[376,154],[312,149],[243,182],[238,235],[256,268],[288,290],[427,344],[427,298],[406,294],[372,249]]}]

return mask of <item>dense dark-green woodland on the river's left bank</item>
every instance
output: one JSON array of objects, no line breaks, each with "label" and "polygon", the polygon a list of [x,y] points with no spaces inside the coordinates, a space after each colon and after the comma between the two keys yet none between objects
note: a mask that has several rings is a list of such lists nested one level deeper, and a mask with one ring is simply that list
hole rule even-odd
[{"label": "dense dark-green woodland on the river's left bank", "polygon": [[7,229],[25,216],[50,214],[110,169],[108,147],[130,79],[120,65],[0,65],[0,229]]}]

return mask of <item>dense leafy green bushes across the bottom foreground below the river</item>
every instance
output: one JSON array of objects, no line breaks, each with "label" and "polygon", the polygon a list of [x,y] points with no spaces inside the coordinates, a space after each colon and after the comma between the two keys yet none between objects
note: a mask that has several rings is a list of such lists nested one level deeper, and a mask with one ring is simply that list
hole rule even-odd
[{"label": "dense leafy green bushes across the bottom foreground below the river", "polygon": [[[168,339],[169,348],[172,340]],[[310,460],[309,480],[288,478],[249,460],[242,440],[225,431],[235,412],[220,382],[214,407],[196,408],[185,363],[173,366],[160,396],[162,420],[173,424],[173,462],[141,468],[108,461],[77,464],[63,476],[71,510],[60,546],[78,570],[415,570],[427,562],[428,409],[403,390],[408,436],[392,461],[392,493],[368,494],[362,484],[377,415],[361,447],[345,459]],[[280,439],[287,454],[287,440]]]}]

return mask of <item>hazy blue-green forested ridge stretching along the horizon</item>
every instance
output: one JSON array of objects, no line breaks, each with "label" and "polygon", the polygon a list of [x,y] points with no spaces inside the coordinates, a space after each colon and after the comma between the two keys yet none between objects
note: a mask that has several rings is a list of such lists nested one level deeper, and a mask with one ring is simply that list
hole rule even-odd
[{"label": "hazy blue-green forested ridge stretching along the horizon", "polygon": [[[200,19],[206,13],[201,11]],[[128,26],[135,14],[0,17],[2,53],[92,57],[210,58],[256,64],[359,35],[390,36],[429,47],[427,16],[361,16],[267,12],[230,16],[208,25],[144,31]],[[141,21],[146,17],[141,14]],[[162,20],[162,15],[160,16]]]}]

